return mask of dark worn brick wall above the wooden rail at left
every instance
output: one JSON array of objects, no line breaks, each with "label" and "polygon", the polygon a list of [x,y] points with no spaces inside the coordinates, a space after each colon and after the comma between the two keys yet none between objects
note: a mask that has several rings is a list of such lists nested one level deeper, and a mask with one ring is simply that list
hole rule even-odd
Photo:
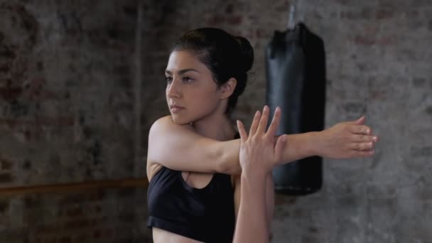
[{"label": "dark worn brick wall above the wooden rail at left", "polygon": [[134,171],[136,15],[126,3],[61,3],[0,5],[7,185],[124,178]]}]

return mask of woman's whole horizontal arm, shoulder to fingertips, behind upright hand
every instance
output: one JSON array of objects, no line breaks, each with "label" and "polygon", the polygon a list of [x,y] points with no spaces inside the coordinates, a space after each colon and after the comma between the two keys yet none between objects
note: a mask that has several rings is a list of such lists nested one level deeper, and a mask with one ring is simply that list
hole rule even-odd
[{"label": "woman's whole horizontal arm, shoulder to fingertips, behind upright hand", "polygon": [[[263,114],[265,112],[269,111]],[[280,116],[280,112],[275,116]],[[340,122],[324,131],[286,135],[280,163],[308,156],[371,156],[377,136],[364,122],[365,117],[361,117],[357,121]],[[175,124],[171,116],[162,117],[151,126],[148,135],[147,172],[158,165],[178,171],[239,174],[239,139],[208,139],[193,131],[190,125]]]}]

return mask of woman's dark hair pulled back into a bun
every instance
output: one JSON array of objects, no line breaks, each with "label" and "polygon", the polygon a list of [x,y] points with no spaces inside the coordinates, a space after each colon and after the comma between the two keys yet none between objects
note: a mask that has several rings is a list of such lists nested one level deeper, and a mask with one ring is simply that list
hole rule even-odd
[{"label": "woman's dark hair pulled back into a bun", "polygon": [[219,85],[234,77],[237,85],[228,99],[226,114],[231,114],[247,82],[247,71],[254,63],[252,45],[242,36],[232,36],[220,28],[197,28],[183,34],[172,51],[189,50],[212,72]]}]

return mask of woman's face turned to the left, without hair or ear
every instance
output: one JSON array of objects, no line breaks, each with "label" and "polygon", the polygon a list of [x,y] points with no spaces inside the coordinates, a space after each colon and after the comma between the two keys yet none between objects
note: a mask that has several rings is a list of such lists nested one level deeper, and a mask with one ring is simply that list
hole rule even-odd
[{"label": "woman's face turned to the left, without hair or ear", "polygon": [[165,75],[166,102],[176,124],[204,119],[222,104],[222,91],[212,73],[192,53],[173,51]]}]

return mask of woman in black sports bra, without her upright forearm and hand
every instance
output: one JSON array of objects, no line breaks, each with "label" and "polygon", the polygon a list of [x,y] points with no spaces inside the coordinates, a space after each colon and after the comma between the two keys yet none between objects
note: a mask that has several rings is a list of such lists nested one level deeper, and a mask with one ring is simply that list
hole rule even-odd
[{"label": "woman in black sports bra, without her upright forearm and hand", "polygon": [[[175,43],[166,68],[171,116],[155,121],[148,135],[148,227],[154,242],[232,242],[242,168],[230,115],[253,60],[249,41],[217,28],[188,31]],[[263,116],[268,114],[264,107]],[[279,117],[277,109],[274,119]],[[364,121],[285,135],[281,161],[372,156],[377,136]],[[271,173],[265,193],[269,226]]]}]

